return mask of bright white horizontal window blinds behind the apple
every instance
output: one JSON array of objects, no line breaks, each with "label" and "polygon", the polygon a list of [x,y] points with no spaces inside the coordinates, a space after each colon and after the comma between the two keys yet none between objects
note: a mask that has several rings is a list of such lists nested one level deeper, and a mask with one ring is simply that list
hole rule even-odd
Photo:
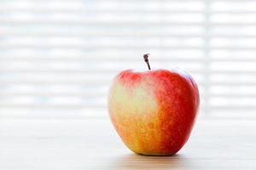
[{"label": "bright white horizontal window blinds behind the apple", "polygon": [[0,116],[108,115],[125,69],[188,70],[205,117],[256,116],[253,0],[1,0]]}]

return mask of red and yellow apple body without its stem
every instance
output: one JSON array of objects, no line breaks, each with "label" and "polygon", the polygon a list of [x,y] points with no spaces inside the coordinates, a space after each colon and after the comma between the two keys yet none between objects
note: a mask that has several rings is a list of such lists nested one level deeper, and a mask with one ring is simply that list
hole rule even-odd
[{"label": "red and yellow apple body without its stem", "polygon": [[172,156],[189,139],[199,91],[183,71],[122,71],[109,90],[108,112],[125,145],[137,154]]}]

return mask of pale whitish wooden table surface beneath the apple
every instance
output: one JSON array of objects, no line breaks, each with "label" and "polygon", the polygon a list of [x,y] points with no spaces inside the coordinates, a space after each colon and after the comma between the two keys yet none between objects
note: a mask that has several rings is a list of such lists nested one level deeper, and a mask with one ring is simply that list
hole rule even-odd
[{"label": "pale whitish wooden table surface beneath the apple", "polygon": [[6,119],[0,169],[256,169],[256,122],[199,120],[176,156],[158,157],[126,149],[108,119]]}]

